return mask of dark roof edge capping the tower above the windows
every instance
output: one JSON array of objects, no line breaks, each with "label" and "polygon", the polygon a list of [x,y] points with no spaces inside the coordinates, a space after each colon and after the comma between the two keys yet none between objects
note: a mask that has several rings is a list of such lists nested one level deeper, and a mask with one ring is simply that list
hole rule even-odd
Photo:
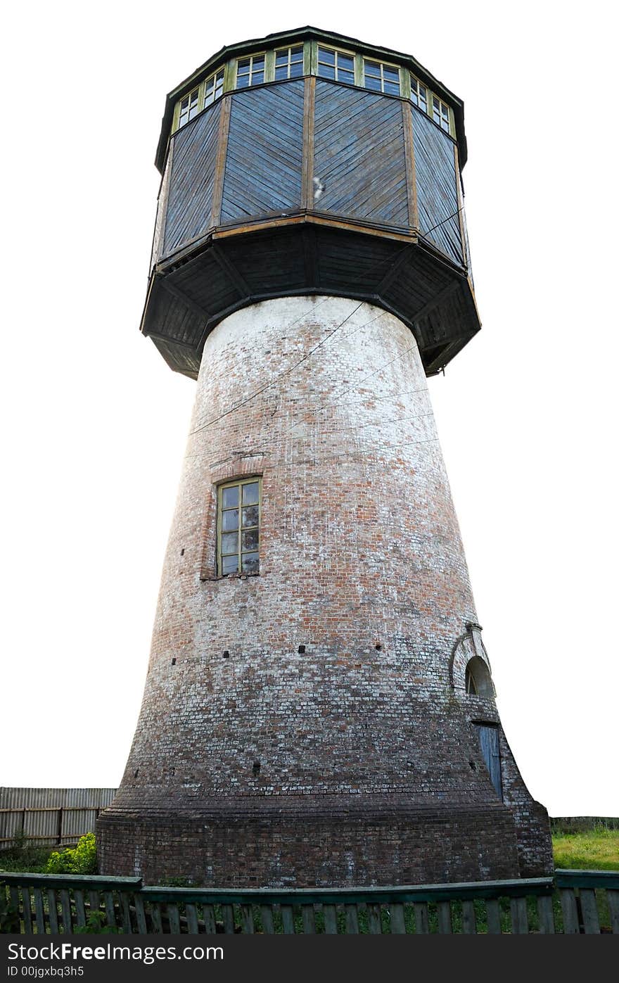
[{"label": "dark roof edge capping the tower above the windows", "polygon": [[285,45],[287,43],[295,43],[302,40],[315,39],[319,41],[324,41],[326,43],[335,44],[336,46],[344,47],[354,47],[356,50],[363,52],[366,55],[374,56],[379,60],[384,61],[396,61],[401,65],[405,65],[410,68],[411,71],[416,75],[422,82],[424,82],[432,91],[436,92],[437,95],[442,96],[450,104],[454,111],[454,121],[456,124],[456,137],[458,140],[459,147],[459,158],[460,165],[464,167],[467,160],[467,138],[465,136],[464,129],[464,102],[462,99],[458,98],[454,92],[449,88],[444,86],[442,82],[435,79],[434,76],[423,68],[422,65],[412,56],[404,54],[401,51],[394,51],[392,48],[382,48],[375,44],[366,44],[365,41],[360,41],[355,37],[349,37],[346,34],[336,34],[328,30],[320,30],[319,28],[297,28],[294,30],[282,30],[274,34],[267,34],[265,37],[256,37],[247,41],[239,41],[237,44],[225,45],[220,48],[214,55],[200,65],[195,72],[192,72],[187,79],[184,80],[177,86],[173,88],[171,92],[168,92],[165,101],[165,109],[163,113],[163,119],[161,121],[161,135],[159,137],[159,143],[157,145],[157,152],[155,156],[155,164],[159,171],[163,171],[163,166],[165,163],[165,155],[167,152],[168,141],[170,139],[170,131],[172,130],[172,119],[174,114],[174,106],[181,96],[185,95],[190,89],[194,88],[197,83],[212,72],[217,65],[222,62],[226,62],[231,58],[238,58],[243,54],[251,54],[252,51],[258,51],[262,48],[277,47],[278,45]]}]

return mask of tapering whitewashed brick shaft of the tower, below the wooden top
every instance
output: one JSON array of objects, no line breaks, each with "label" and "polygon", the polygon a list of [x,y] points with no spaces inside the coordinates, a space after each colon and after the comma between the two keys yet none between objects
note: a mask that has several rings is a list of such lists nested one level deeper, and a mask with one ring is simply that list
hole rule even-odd
[{"label": "tapering whitewashed brick shaft of the tower, below the wooden top", "polygon": [[[206,341],[190,430],[102,870],[297,885],[509,877],[523,858],[540,872],[533,800],[518,776],[514,808],[498,801],[454,658],[478,618],[411,331],[339,298],[238,312]],[[259,575],[218,578],[216,486],[252,475]]]}]

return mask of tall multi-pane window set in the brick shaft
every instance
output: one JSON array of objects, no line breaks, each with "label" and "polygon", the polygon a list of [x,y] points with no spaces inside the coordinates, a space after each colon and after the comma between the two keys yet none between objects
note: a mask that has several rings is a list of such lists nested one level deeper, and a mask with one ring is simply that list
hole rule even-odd
[{"label": "tall multi-pane window set in the brick shaft", "polygon": [[217,489],[217,573],[259,572],[262,480],[225,482]]}]

